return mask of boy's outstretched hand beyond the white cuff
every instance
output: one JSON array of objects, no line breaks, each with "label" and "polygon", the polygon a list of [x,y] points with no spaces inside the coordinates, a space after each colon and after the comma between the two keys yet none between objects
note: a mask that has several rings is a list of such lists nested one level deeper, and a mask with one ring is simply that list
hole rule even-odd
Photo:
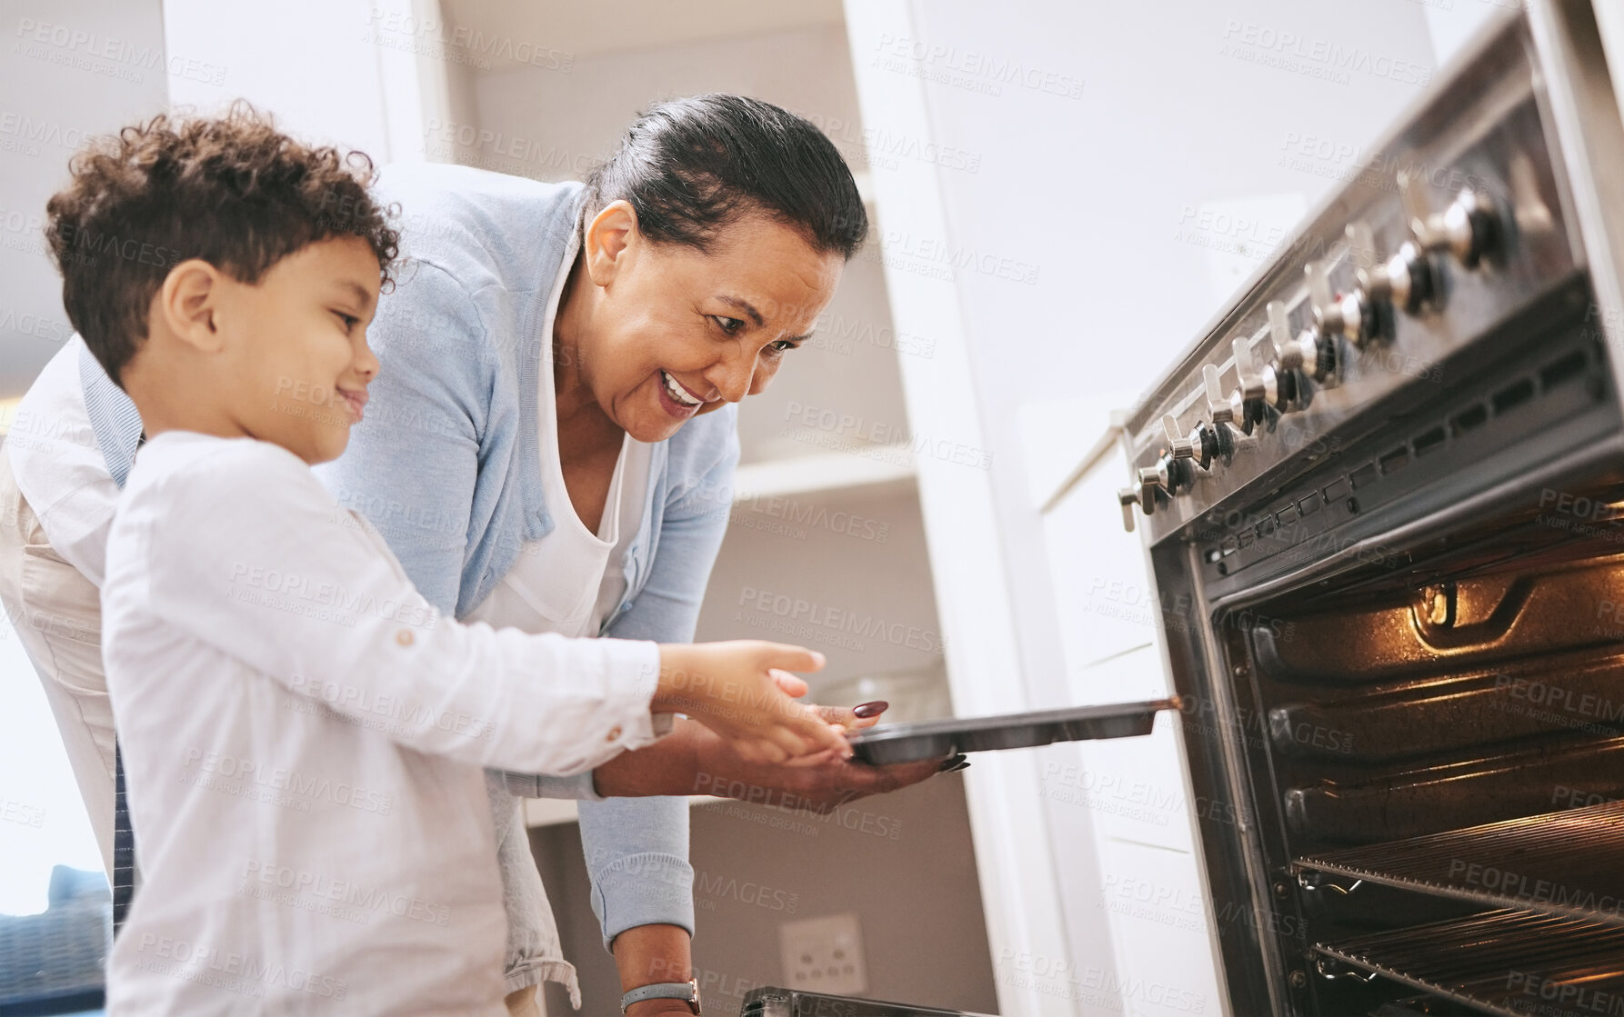
[{"label": "boy's outstretched hand beyond the white cuff", "polygon": [[841,730],[815,707],[784,694],[775,673],[817,672],[823,655],[799,646],[734,639],[661,644],[651,709],[693,717],[732,743],[742,759],[786,762],[851,756]]}]

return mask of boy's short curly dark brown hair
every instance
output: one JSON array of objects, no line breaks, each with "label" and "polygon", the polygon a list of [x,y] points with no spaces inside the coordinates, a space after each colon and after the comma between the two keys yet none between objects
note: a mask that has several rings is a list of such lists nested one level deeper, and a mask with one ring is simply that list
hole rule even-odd
[{"label": "boy's short curly dark brown hair", "polygon": [[391,289],[398,208],[372,201],[372,159],[300,144],[245,99],[222,117],[125,127],[75,152],[68,170],[71,183],[45,203],[45,240],[68,321],[114,381],[146,339],[169,269],[188,258],[253,285],[287,255],[354,235]]}]

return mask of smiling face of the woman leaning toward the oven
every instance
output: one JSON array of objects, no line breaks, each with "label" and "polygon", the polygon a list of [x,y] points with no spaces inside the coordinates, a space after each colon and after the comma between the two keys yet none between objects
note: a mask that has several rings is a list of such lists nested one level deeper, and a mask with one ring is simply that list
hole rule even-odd
[{"label": "smiling face of the woman leaning toward the oven", "polygon": [[651,243],[632,206],[614,201],[588,222],[559,311],[560,397],[585,386],[620,430],[663,441],[765,389],[810,336],[843,266],[765,214],[724,227],[708,253]]}]

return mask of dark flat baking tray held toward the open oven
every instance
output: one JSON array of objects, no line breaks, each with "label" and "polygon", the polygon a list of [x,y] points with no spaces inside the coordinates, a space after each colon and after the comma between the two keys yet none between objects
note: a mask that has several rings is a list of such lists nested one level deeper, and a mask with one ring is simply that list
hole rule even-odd
[{"label": "dark flat baking tray held toward the open oven", "polygon": [[882,723],[851,735],[856,757],[874,766],[940,759],[953,753],[1026,749],[1054,741],[1134,738],[1148,735],[1161,710],[1179,709],[1179,697],[1109,706],[1073,706],[1062,710],[1004,714],[1000,717],[950,717],[918,723]]}]

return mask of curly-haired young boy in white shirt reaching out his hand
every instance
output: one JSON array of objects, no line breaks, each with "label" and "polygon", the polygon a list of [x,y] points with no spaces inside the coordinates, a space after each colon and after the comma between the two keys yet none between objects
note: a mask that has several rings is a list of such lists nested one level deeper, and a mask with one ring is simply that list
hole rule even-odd
[{"label": "curly-haired young boy in white shirt reaching out his hand", "polygon": [[268,123],[161,117],[47,206],[68,316],[148,436],[102,586],[143,874],[112,1014],[502,1014],[482,767],[578,774],[677,710],[758,759],[849,751],[771,675],[810,650],[463,626],[326,495],[309,467],[362,417],[396,255],[370,180]]}]

